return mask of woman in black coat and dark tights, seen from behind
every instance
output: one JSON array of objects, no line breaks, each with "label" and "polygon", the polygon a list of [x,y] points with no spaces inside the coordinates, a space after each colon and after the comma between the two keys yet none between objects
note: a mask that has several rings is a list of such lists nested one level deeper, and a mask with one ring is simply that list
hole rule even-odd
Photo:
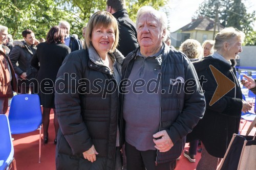
[{"label": "woman in black coat and dark tights, seen from behind", "polygon": [[31,65],[38,70],[37,81],[39,85],[40,103],[43,108],[42,124],[44,125],[44,143],[48,142],[51,108],[54,111],[54,143],[57,143],[59,124],[54,106],[54,84],[61,63],[70,53],[70,48],[63,44],[65,42],[64,35],[65,30],[59,26],[52,27],[47,34],[46,42],[37,45],[37,50],[31,59]]}]

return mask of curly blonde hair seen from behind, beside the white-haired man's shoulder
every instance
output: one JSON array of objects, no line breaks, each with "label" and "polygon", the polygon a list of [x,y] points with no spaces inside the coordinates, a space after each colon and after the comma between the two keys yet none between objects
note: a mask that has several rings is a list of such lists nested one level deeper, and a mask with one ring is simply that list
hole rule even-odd
[{"label": "curly blonde hair seen from behind, beside the white-haired man's shoulder", "polygon": [[190,59],[202,58],[203,48],[195,39],[187,39],[180,45],[179,51],[183,52]]}]

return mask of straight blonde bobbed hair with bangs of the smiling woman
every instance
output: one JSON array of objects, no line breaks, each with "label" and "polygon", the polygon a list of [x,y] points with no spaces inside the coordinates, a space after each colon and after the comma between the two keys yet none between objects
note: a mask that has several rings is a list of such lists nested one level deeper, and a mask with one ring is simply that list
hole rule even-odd
[{"label": "straight blonde bobbed hair with bangs of the smiling woman", "polygon": [[110,52],[114,52],[119,41],[118,23],[116,18],[111,13],[106,11],[95,12],[90,17],[87,24],[86,36],[84,36],[84,43],[86,44],[87,47],[92,46],[91,38],[92,38],[93,29],[101,28],[101,27],[103,28],[113,27],[116,38]]}]

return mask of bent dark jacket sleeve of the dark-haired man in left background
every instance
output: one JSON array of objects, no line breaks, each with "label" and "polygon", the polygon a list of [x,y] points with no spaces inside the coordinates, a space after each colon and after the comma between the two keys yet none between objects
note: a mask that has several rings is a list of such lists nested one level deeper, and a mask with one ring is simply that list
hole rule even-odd
[{"label": "bent dark jacket sleeve of the dark-haired man in left background", "polygon": [[12,52],[9,56],[10,60],[11,60],[11,63],[12,63],[12,66],[13,66],[13,69],[15,71],[15,74],[20,76],[21,74],[23,74],[24,70],[22,70],[19,66],[16,65],[17,61],[19,60],[19,57],[20,57],[20,47],[19,46],[14,46],[12,48]]}]

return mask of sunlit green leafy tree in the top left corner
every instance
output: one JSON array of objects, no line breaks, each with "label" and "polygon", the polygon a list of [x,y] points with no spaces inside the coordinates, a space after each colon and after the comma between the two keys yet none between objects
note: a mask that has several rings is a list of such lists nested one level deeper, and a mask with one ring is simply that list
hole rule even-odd
[{"label": "sunlit green leafy tree in the top left corner", "polygon": [[46,37],[59,20],[71,18],[70,13],[59,10],[53,0],[11,1],[0,0],[0,24],[9,28],[14,39],[22,39],[22,31],[31,29],[36,38]]}]

